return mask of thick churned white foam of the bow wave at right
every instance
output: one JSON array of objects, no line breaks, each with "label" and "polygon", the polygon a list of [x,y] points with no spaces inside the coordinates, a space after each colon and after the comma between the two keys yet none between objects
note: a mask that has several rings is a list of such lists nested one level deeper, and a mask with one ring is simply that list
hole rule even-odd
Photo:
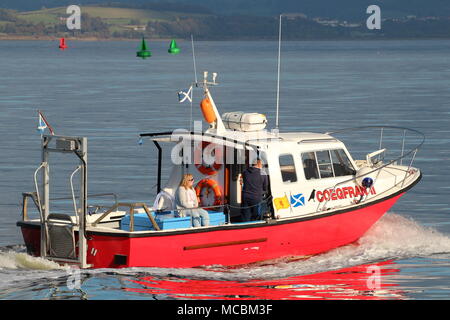
[{"label": "thick churned white foam of the bow wave at right", "polygon": [[[269,277],[312,274],[388,259],[424,257],[450,253],[450,238],[432,228],[390,213],[355,244],[340,247],[310,259],[260,268]],[[251,270],[254,274],[255,270]]]}]

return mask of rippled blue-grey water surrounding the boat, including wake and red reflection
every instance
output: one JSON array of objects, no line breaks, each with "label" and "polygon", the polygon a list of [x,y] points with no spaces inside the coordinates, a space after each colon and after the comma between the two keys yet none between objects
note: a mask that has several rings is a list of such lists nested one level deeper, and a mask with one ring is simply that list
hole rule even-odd
[{"label": "rippled blue-grey water surrounding the boat, including wake and red reflection", "polygon": [[[135,58],[137,42],[0,42],[1,299],[448,299],[450,297],[450,41],[285,42],[280,128],[317,131],[391,125],[426,142],[414,165],[422,181],[358,246],[306,261],[241,269],[94,270],[73,274],[24,253],[16,221],[21,193],[40,163],[37,112],[57,134],[89,140],[89,193],[151,203],[156,156],[138,134],[189,128],[176,93],[194,79],[189,42]],[[276,42],[198,42],[198,76],[218,72],[220,112],[261,112],[275,122]],[[194,93],[194,118],[201,99]],[[356,141],[357,142],[357,141]],[[374,151],[375,148],[367,150]],[[58,159],[57,159],[58,160]],[[62,171],[76,161],[64,161]],[[70,172],[70,171],[67,171]],[[67,172],[52,196],[70,196]],[[56,173],[55,173],[56,175]],[[379,283],[370,285],[377,268]],[[73,287],[73,280],[80,286]]]}]

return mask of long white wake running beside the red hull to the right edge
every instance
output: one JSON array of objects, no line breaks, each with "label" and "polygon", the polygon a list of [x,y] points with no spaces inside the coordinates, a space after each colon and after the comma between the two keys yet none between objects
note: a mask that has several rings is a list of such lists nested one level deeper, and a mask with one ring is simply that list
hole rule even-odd
[{"label": "long white wake running beside the red hull to the right edge", "polygon": [[222,266],[209,266],[203,269],[130,268],[119,272],[144,272],[155,276],[167,276],[170,273],[176,277],[245,281],[314,274],[379,261],[437,254],[450,255],[450,237],[433,228],[422,226],[412,219],[389,213],[357,243],[308,259],[288,257],[239,268]]}]

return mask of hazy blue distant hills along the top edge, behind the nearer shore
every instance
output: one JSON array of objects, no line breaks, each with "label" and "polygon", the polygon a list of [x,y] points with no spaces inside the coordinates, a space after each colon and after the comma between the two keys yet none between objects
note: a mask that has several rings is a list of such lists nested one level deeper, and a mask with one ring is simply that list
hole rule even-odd
[{"label": "hazy blue distant hills along the top edge, behind the nearer shore", "polygon": [[[310,18],[322,17],[361,21],[365,8],[371,4],[381,7],[385,18],[449,17],[448,0],[2,0],[0,7],[18,11],[33,11],[42,7],[64,7],[110,3],[109,6],[157,8],[158,11],[203,12],[217,15],[276,16],[280,13],[304,13]],[[220,4],[220,5],[218,5]],[[159,8],[159,9],[158,9]],[[165,8],[165,9],[164,9]]]}]

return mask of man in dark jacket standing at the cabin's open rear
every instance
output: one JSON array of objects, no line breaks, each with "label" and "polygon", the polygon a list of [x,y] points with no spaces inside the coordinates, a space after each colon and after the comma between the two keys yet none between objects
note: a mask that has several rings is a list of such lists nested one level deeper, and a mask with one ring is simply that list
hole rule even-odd
[{"label": "man in dark jacket standing at the cabin's open rear", "polygon": [[261,169],[262,161],[257,159],[242,173],[242,221],[260,219],[259,208],[268,187],[267,175]]}]

